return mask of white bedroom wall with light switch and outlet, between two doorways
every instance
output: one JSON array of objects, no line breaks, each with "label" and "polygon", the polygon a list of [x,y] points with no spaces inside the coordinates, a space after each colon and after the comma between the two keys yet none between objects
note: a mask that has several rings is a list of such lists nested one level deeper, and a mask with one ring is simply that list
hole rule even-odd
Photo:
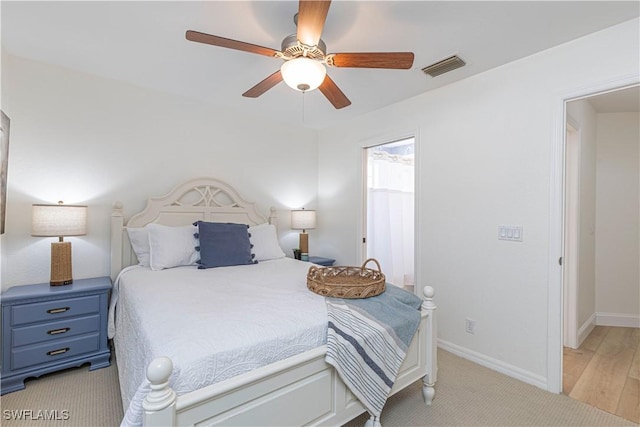
[{"label": "white bedroom wall with light switch and outlet, between two doorways", "polygon": [[[540,387],[550,378],[548,291],[554,135],[565,94],[639,74],[638,20],[322,131],[323,244],[358,263],[363,140],[418,130],[418,277],[441,345]],[[426,77],[425,77],[426,78]],[[498,240],[521,225],[524,241]],[[557,268],[557,271],[555,270]],[[466,317],[477,321],[464,332]],[[560,355],[558,355],[558,359]],[[555,387],[555,386],[554,386]]]}]

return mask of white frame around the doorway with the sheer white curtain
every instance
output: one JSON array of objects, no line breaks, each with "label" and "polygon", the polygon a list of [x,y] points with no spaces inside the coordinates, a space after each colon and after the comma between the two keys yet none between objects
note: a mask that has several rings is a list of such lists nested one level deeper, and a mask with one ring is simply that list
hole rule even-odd
[{"label": "white frame around the doorway with the sheer white curtain", "polygon": [[367,149],[371,147],[375,147],[378,145],[389,144],[395,141],[401,141],[403,139],[414,139],[414,169],[413,169],[413,179],[414,179],[414,219],[413,219],[413,230],[414,230],[414,241],[413,241],[413,269],[414,269],[414,292],[422,297],[422,290],[424,286],[422,285],[422,264],[419,262],[421,259],[421,247],[420,247],[420,236],[422,235],[422,230],[420,228],[421,221],[420,219],[420,132],[419,129],[413,130],[396,130],[388,133],[384,133],[377,136],[372,136],[360,141],[360,150],[361,150],[361,165],[360,165],[360,190],[361,190],[361,203],[360,203],[360,215],[359,215],[359,230],[360,237],[358,238],[356,256],[360,262],[364,262],[366,260],[367,251],[366,251],[366,243],[363,241],[364,237],[367,235]]}]

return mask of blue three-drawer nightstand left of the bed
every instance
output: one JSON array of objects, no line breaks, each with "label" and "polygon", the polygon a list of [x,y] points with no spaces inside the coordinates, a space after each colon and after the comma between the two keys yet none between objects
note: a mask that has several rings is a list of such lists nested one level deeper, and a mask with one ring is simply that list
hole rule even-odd
[{"label": "blue three-drawer nightstand left of the bed", "polygon": [[107,314],[111,279],[77,279],[71,285],[14,286],[2,293],[2,394],[24,380],[91,363],[111,364]]}]

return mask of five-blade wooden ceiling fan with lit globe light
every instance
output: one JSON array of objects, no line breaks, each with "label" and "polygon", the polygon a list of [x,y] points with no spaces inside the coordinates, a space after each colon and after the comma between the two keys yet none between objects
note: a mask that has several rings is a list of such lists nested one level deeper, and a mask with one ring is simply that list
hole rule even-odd
[{"label": "five-blade wooden ceiling fan with lit globe light", "polygon": [[320,92],[335,108],[351,105],[351,101],[327,75],[326,67],[409,69],[413,65],[412,52],[359,52],[327,54],[320,38],[330,0],[300,0],[294,17],[296,34],[285,37],[281,51],[238,40],[227,39],[198,31],[187,31],[187,40],[228,49],[241,50],[284,60],[280,70],[246,91],[242,96],[257,98],[281,81],[293,89]]}]

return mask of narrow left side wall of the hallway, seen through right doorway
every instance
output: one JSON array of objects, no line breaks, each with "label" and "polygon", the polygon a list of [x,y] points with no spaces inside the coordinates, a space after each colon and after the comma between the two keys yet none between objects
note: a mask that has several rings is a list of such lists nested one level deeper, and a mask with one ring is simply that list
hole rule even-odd
[{"label": "narrow left side wall of the hallway, seen through right doorway", "polygon": [[596,314],[596,138],[597,115],[587,99],[567,103],[567,115],[579,129],[580,190],[577,279],[577,327]]}]

